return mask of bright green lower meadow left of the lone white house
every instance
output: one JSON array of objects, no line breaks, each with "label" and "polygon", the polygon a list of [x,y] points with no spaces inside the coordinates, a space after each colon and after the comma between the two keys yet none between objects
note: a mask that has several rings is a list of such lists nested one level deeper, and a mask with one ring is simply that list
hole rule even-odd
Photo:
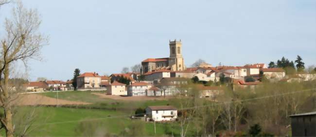
[{"label": "bright green lower meadow left of the lone white house", "polygon": [[[179,128],[172,129],[171,124],[156,123],[156,134],[152,122],[142,122],[131,120],[126,113],[108,110],[90,110],[75,108],[55,108],[55,107],[21,107],[16,118],[16,129],[20,133],[26,123],[26,117],[35,111],[32,126],[28,136],[46,137],[75,137],[75,136],[97,136],[97,135],[124,135],[124,131],[129,131],[135,126],[143,126],[141,136],[162,136],[167,133],[179,133]],[[133,124],[132,124],[133,123]],[[137,129],[136,130],[141,130]],[[2,129],[2,135],[3,135]],[[138,133],[139,134],[139,133]]]}]

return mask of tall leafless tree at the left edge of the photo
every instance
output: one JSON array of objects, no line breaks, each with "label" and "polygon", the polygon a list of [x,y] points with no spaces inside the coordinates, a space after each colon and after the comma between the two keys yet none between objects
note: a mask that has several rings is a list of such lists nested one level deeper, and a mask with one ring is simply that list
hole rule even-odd
[{"label": "tall leafless tree at the left edge of the photo", "polygon": [[47,38],[38,32],[41,20],[36,10],[26,9],[21,2],[13,9],[12,18],[5,19],[5,34],[1,36],[0,49],[0,105],[4,109],[1,123],[7,137],[13,137],[12,92],[9,89],[10,65],[15,61],[27,64],[29,59],[39,59],[39,51]]}]

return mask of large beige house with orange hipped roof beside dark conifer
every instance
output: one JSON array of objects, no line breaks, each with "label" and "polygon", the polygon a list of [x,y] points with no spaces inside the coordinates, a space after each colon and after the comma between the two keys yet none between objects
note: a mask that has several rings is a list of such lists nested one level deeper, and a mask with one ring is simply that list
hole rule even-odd
[{"label": "large beige house with orange hipped roof beside dark conifer", "polygon": [[101,76],[97,73],[84,73],[77,77],[77,89],[100,88]]}]

